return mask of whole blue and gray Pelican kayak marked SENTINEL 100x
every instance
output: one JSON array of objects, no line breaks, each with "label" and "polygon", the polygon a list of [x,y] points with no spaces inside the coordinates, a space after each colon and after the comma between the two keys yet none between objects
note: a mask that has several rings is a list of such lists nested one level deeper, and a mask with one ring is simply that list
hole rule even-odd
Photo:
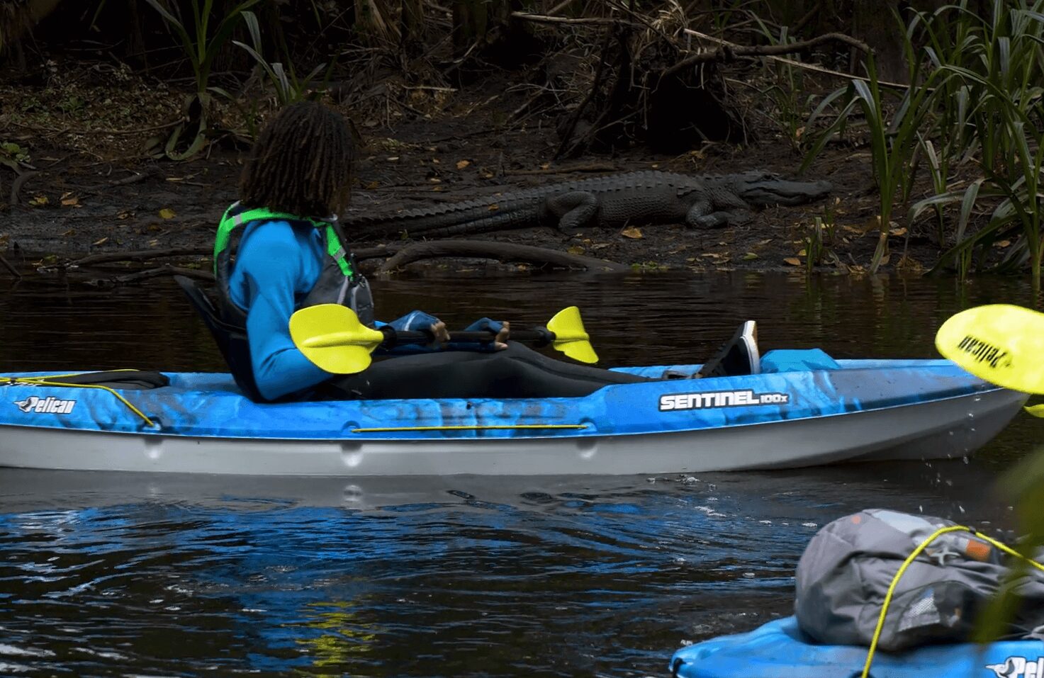
[{"label": "whole blue and gray Pelican kayak marked SENTINEL 100x", "polygon": [[[830,362],[830,369],[614,385],[575,398],[267,404],[246,398],[223,373],[167,373],[167,386],[115,393],[10,374],[0,381],[0,466],[613,475],[959,458],[1026,399],[946,360]],[[697,367],[625,369],[660,378]]]}]

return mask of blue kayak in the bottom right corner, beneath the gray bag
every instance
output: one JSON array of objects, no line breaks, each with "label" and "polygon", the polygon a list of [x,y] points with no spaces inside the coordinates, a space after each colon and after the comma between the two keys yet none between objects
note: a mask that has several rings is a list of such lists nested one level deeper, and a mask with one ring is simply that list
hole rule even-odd
[{"label": "blue kayak in the bottom right corner, beneath the gray bag", "polygon": [[[670,659],[678,678],[858,678],[867,648],[813,645],[794,618],[769,622],[750,633],[683,648]],[[1044,678],[1044,643],[1004,640],[932,645],[877,652],[873,678]]]}]

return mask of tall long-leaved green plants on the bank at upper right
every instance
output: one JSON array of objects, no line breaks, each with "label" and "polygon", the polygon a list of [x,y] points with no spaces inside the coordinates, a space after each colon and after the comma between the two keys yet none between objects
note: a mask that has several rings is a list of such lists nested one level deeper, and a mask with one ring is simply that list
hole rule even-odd
[{"label": "tall long-leaved green plants on the bank at upper right", "polygon": [[[940,243],[950,240],[936,267],[955,263],[962,276],[987,265],[1000,240],[1016,240],[998,268],[1029,263],[1040,289],[1041,172],[1044,170],[1044,0],[994,0],[987,17],[967,0],[912,15],[905,24],[904,49],[914,83],[889,105],[868,63],[869,81],[852,80],[824,99],[808,126],[841,107],[811,146],[805,166],[844,131],[851,114],[862,113],[871,138],[874,178],[881,192],[881,238],[871,270],[886,248],[888,221],[909,201],[922,158],[934,195],[915,202],[912,221],[931,210]],[[891,111],[891,120],[886,120]],[[980,177],[951,188],[956,167],[975,166]],[[955,222],[946,208],[959,205]],[[984,225],[972,215],[987,212]],[[947,233],[947,226],[952,227]],[[973,226],[978,226],[977,228]]]}]

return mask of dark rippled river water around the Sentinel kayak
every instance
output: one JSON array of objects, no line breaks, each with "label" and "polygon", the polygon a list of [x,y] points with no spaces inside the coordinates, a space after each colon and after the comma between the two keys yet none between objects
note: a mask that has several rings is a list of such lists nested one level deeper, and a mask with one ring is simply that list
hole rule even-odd
[{"label": "dark rippled river water around the Sentinel kayak", "polygon": [[[577,305],[612,365],[763,350],[935,357],[1018,280],[520,275],[374,281],[383,317],[518,326]],[[221,368],[172,285],[0,292],[0,371]],[[1042,425],[970,460],[695,477],[237,479],[0,469],[0,675],[662,676],[682,644],[792,605],[826,523],[869,507],[1005,528],[994,480]],[[641,454],[636,450],[635,454]]]}]

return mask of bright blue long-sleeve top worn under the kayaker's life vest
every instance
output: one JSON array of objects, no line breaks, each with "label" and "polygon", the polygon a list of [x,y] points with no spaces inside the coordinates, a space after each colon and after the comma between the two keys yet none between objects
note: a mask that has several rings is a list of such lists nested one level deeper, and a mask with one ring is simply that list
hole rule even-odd
[{"label": "bright blue long-sleeve top worn under the kayaker's life vest", "polygon": [[[290,316],[315,286],[325,262],[322,234],[287,221],[259,221],[243,232],[230,292],[246,312],[246,335],[258,390],[267,399],[316,386],[332,374],[316,367],[290,339]],[[413,311],[392,322],[423,330],[436,318]]]}]

